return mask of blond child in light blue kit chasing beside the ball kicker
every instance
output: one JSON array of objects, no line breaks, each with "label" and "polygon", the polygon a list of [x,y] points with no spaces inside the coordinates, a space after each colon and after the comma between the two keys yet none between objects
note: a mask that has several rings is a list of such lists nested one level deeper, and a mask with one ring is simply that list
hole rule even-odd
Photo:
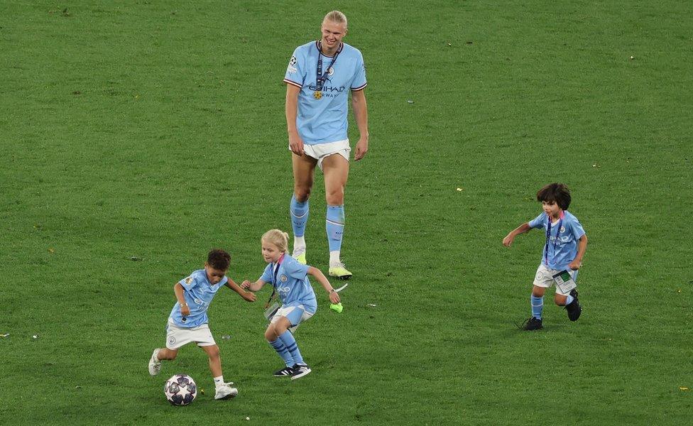
[{"label": "blond child in light blue kit chasing beside the ball kicker", "polygon": [[257,291],[266,283],[271,283],[279,295],[282,306],[271,318],[265,331],[265,339],[277,351],[286,364],[275,371],[275,377],[290,376],[291,380],[310,373],[310,367],[303,361],[293,332],[302,322],[315,315],[317,300],[307,275],[312,275],[327,291],[329,301],[339,303],[337,291],[329,284],[320,269],[303,265],[289,256],[289,235],[279,229],[267,231],[261,239],[262,257],[268,264],[262,276],[251,283],[244,280],[241,288]]}]

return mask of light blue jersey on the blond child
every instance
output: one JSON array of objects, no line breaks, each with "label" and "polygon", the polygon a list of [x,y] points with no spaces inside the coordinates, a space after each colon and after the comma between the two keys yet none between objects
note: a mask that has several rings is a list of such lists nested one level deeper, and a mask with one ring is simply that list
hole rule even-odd
[{"label": "light blue jersey on the blond child", "polygon": [[317,300],[315,300],[315,292],[313,292],[308,280],[308,268],[310,266],[298,263],[295,258],[288,254],[284,254],[278,263],[278,270],[275,269],[276,263],[270,263],[260,279],[274,286],[283,306],[303,305],[306,312],[315,314]]}]

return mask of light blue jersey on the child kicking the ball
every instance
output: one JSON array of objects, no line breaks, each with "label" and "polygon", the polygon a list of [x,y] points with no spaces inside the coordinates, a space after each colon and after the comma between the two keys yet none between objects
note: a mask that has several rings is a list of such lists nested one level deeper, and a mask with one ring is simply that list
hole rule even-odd
[{"label": "light blue jersey on the child kicking the ball", "polygon": [[217,294],[219,288],[229,281],[229,278],[224,277],[219,284],[212,285],[207,279],[207,273],[204,269],[198,269],[190,274],[189,277],[178,281],[178,284],[183,287],[183,296],[187,307],[190,308],[190,315],[185,319],[180,315],[180,303],[175,302],[169,320],[178,327],[192,328],[202,324],[207,324],[207,308],[212,303],[214,295]]}]

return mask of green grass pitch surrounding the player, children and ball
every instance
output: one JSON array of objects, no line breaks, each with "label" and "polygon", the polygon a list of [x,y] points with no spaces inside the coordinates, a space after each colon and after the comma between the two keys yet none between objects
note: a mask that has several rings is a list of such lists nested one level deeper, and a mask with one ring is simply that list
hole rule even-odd
[{"label": "green grass pitch surrounding the player, children and ball", "polygon": [[[269,290],[222,290],[209,324],[239,396],[213,399],[193,346],[151,378],[175,281],[217,246],[254,280],[261,234],[290,229],[281,80],[332,7],[369,73],[344,313],[316,283],[297,335],[314,371],[280,380]],[[4,1],[0,16],[0,423],[689,422],[689,2]],[[545,329],[520,332],[544,236],[501,239],[552,181],[589,236],[584,313],[569,323],[550,291]],[[310,208],[308,260],[327,271],[320,174]],[[164,398],[174,373],[205,391],[187,408]]]}]

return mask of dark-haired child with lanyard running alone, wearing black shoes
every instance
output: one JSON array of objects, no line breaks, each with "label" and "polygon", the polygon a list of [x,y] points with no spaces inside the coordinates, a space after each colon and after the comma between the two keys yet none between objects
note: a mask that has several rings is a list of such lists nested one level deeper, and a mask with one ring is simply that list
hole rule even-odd
[{"label": "dark-haired child with lanyard running alone, wearing black shoes", "polygon": [[515,236],[524,234],[532,228],[542,228],[546,242],[542,251],[542,261],[537,269],[532,290],[532,317],[525,322],[523,329],[542,329],[542,309],[544,292],[556,283],[554,301],[564,306],[568,319],[577,321],[582,306],[577,300],[577,271],[582,266],[582,257],[587,248],[587,236],[582,225],[570,214],[570,190],[562,183],[550,183],[537,192],[537,201],[544,211],[532,221],[521,224],[503,239],[503,246],[510,247]]}]

